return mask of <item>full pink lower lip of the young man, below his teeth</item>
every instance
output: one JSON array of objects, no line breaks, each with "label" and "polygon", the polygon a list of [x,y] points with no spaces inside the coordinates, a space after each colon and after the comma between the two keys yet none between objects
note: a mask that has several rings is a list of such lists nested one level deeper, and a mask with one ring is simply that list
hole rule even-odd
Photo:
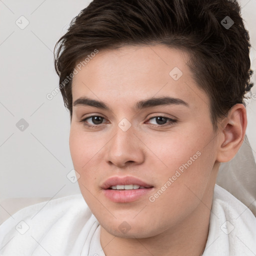
[{"label": "full pink lower lip of the young man, below his teeth", "polygon": [[113,202],[132,202],[149,193],[153,187],[130,190],[104,189],[104,195]]}]

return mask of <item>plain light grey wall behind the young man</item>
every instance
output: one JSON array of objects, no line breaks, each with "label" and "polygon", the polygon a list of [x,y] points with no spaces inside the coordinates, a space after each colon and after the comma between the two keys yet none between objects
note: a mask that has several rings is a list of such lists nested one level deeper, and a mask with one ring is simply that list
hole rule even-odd
[{"label": "plain light grey wall behind the young man", "polygon": [[[0,0],[0,198],[79,193],[77,182],[67,178],[73,175],[69,113],[61,93],[51,100],[46,95],[58,86],[54,45],[89,2]],[[255,70],[256,0],[239,2],[250,32],[250,57]],[[253,82],[255,78],[256,71]],[[252,93],[246,134],[256,157],[256,85]],[[24,125],[23,130],[20,125]]]}]

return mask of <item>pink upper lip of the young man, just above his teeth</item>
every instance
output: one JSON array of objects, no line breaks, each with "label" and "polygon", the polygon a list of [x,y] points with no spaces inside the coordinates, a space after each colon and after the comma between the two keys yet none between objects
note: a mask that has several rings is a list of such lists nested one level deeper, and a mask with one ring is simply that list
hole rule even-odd
[{"label": "pink upper lip of the young man, just above his teeth", "polygon": [[140,186],[144,186],[144,187],[152,187],[152,185],[142,181],[139,178],[136,177],[132,177],[132,176],[124,176],[124,177],[120,177],[120,176],[113,176],[108,178],[107,180],[105,180],[103,182],[103,184],[101,185],[101,187],[103,189],[107,189],[110,186],[116,186],[116,185],[129,185],[129,184],[133,184],[133,185],[140,185]]}]

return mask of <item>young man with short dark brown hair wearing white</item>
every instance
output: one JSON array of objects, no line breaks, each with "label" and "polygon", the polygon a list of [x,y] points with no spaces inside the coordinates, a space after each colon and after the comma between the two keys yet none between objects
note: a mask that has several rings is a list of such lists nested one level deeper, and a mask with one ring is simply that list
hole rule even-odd
[{"label": "young man with short dark brown hair wearing white", "polygon": [[215,185],[252,86],[238,4],[94,0],[58,45],[82,196],[14,214],[2,254],[255,255],[254,215]]}]

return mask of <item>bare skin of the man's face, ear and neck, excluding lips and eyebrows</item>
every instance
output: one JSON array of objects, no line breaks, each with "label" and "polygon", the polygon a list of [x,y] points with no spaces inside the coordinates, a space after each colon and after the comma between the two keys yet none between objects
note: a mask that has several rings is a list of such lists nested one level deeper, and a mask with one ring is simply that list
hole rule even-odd
[{"label": "bare skin of the man's face, ear and neck, excluding lips and eyebrows", "polygon": [[[163,45],[123,46],[100,50],[73,78],[73,102],[86,96],[111,109],[73,106],[69,136],[78,184],[99,221],[106,256],[198,256],[204,250],[219,163],[238,151],[247,119],[245,107],[236,104],[214,133],[209,98],[192,79],[188,60],[188,53]],[[174,67],[183,73],[177,81],[169,75]],[[189,106],[134,110],[137,101],[159,96],[176,97]],[[84,121],[98,125],[93,128],[80,122],[91,115],[103,117],[101,123]],[[157,116],[177,121],[159,123],[152,118]],[[123,118],[131,124],[127,131],[118,127]],[[197,151],[200,156],[155,201],[149,201]],[[107,199],[102,182],[126,175],[151,184],[153,191],[128,203]],[[126,233],[118,228],[123,221],[130,227]]]}]

